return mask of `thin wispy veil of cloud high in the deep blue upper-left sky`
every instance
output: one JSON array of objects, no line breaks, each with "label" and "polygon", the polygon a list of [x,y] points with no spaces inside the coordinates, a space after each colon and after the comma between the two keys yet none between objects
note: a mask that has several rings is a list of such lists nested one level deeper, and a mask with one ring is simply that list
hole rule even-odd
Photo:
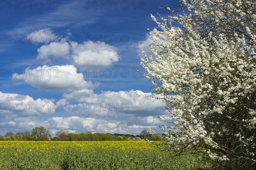
[{"label": "thin wispy veil of cloud high in the deep blue upper-left sky", "polygon": [[61,1],[58,10],[46,10],[20,20],[14,28],[2,34],[29,34],[40,28],[76,28],[95,23],[102,11],[86,10],[82,1]]}]

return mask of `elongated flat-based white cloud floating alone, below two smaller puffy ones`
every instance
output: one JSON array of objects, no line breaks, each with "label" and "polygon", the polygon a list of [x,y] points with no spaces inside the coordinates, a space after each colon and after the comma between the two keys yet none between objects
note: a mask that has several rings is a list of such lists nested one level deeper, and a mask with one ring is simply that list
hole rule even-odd
[{"label": "elongated flat-based white cloud floating alone, below two smaller puffy ones", "polygon": [[35,88],[47,90],[72,91],[84,88],[95,88],[98,82],[85,81],[82,73],[77,73],[73,65],[54,65],[27,68],[24,74],[13,74],[12,79],[24,80]]}]

